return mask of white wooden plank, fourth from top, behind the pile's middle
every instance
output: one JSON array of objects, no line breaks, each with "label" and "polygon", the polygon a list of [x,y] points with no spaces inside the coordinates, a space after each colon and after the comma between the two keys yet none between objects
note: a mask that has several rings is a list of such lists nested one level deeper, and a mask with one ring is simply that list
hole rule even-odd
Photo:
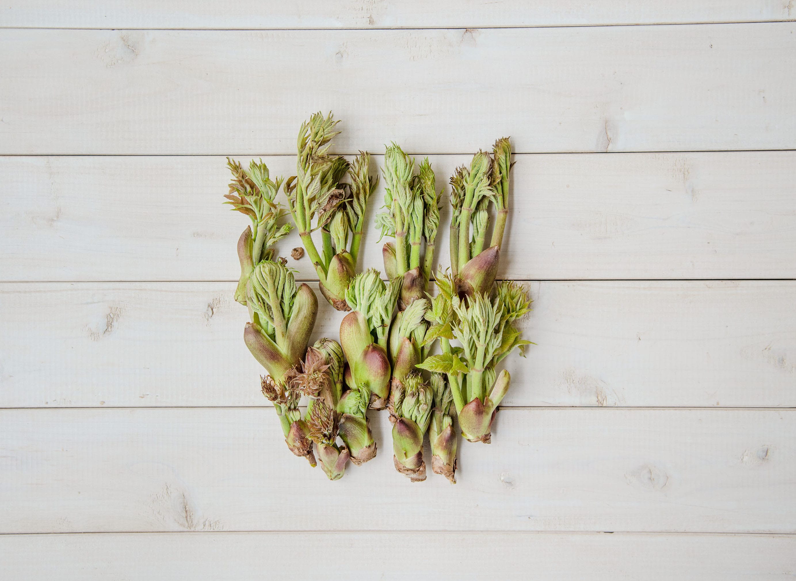
[{"label": "white wooden plank, fourth from top, behind the pile's middle", "polygon": [[[0,407],[270,405],[233,283],[0,285]],[[796,283],[530,283],[507,406],[796,406]],[[314,337],[343,314],[321,302]],[[314,340],[314,339],[313,339]]]}]

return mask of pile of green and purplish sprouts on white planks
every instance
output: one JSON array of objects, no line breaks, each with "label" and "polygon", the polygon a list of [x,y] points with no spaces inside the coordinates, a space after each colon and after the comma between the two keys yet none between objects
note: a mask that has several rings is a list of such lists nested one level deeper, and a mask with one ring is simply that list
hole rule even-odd
[{"label": "pile of green and purplish sprouts on white planks", "polygon": [[[320,462],[330,480],[341,478],[349,461],[359,466],[376,456],[368,410],[387,409],[396,470],[412,482],[426,479],[428,434],[431,470],[455,483],[456,423],[467,441],[490,443],[511,380],[497,365],[530,343],[515,324],[529,312],[528,294],[513,281],[495,280],[509,214],[509,139],[474,154],[451,177],[451,266],[437,271],[443,192],[427,158],[418,165],[400,146],[388,146],[384,207],[375,220],[381,236],[392,238],[382,248],[384,275],[374,267],[357,273],[379,180],[369,173],[367,152],[350,162],[329,153],[337,123],[331,113],[302,123],[296,175],[287,180],[271,179],[262,160],[244,169],[228,159],[226,203],[252,220],[237,248],[235,300],[249,314],[244,341],[267,372],[261,389],[287,447],[310,466]],[[280,189],[287,209],[276,201]],[[287,259],[272,248],[293,228],[322,296],[349,311],[339,341],[310,345],[318,298],[296,283]]]}]

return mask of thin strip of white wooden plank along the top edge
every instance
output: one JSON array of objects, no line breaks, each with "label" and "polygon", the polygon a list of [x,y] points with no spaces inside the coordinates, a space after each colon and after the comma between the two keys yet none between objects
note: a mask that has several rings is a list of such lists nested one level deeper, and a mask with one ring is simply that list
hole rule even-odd
[{"label": "thin strip of white wooden plank along the top edge", "polygon": [[665,22],[775,21],[796,18],[782,0],[310,0],[232,4],[195,2],[99,2],[76,0],[66,6],[46,0],[8,0],[0,26],[52,28],[156,29],[337,29],[466,28],[490,26],[566,26],[656,24]]}]

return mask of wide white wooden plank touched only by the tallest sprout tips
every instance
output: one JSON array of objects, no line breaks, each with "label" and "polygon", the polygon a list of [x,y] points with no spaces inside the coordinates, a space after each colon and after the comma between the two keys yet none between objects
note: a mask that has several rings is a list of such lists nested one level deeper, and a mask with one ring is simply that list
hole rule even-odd
[{"label": "wide white wooden plank touched only by the tallest sprout tips", "polygon": [[796,148],[796,24],[0,31],[0,153]]}]

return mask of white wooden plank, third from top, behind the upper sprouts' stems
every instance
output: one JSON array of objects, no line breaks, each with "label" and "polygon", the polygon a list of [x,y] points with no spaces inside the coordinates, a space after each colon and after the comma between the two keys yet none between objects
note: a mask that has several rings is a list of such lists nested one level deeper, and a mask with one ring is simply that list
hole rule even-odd
[{"label": "white wooden plank, third from top, behind the upper sprouts' stems", "polygon": [[[431,156],[438,187],[449,192],[448,177],[469,157]],[[295,173],[292,156],[265,161],[272,174]],[[248,218],[221,205],[225,163],[0,158],[0,279],[236,279]],[[373,214],[382,195],[369,205],[361,265],[381,267]],[[517,155],[511,204],[504,278],[796,278],[793,151]],[[443,224],[448,216],[446,204]],[[438,262],[447,264],[447,226],[440,236]],[[294,233],[279,250],[300,244]],[[309,259],[291,266],[316,278]]]}]

